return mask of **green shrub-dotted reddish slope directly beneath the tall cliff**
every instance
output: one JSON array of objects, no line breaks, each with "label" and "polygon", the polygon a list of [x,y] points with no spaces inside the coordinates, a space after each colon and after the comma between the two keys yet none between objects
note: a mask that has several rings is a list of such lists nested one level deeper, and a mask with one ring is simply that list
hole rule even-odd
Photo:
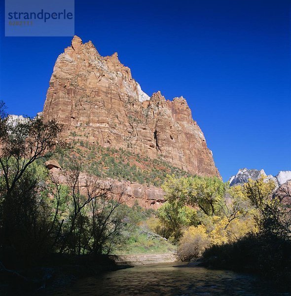
[{"label": "green shrub-dotted reddish slope directly beneath the tall cliff", "polygon": [[59,157],[64,169],[69,167],[69,155],[75,153],[83,170],[100,178],[161,186],[167,175],[179,178],[190,176],[187,172],[172,166],[160,157],[151,159],[123,149],[104,148],[96,144],[74,141],[72,149]]}]

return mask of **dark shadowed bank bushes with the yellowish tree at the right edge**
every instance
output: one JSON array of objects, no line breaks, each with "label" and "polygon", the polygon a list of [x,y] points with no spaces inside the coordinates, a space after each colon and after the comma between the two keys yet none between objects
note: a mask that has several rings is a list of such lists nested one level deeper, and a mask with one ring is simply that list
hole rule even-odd
[{"label": "dark shadowed bank bushes with the yellowish tree at the right edge", "polygon": [[244,193],[255,208],[257,230],[234,242],[214,245],[204,253],[217,268],[252,271],[291,289],[291,191],[281,186],[274,194],[263,180],[249,182]]}]

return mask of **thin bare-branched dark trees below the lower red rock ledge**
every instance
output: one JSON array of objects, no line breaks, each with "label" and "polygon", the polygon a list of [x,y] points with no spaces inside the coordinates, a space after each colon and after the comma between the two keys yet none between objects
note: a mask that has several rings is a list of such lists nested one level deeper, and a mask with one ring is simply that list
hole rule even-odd
[{"label": "thin bare-branched dark trees below the lower red rock ledge", "polygon": [[[104,185],[95,177],[81,176],[81,170],[78,160],[71,157],[64,197],[67,218],[57,222],[56,249],[72,255],[109,254],[122,243],[122,233],[128,229],[126,213],[118,210],[126,200],[124,192],[114,194],[112,185]],[[61,204],[58,202],[61,186],[55,181],[57,205]]]}]

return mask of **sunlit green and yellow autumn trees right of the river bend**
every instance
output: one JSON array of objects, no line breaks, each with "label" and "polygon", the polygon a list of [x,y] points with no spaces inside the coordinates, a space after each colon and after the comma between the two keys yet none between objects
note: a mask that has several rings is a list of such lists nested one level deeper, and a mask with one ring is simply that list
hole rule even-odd
[{"label": "sunlit green and yellow autumn trees right of the river bend", "polygon": [[[170,176],[163,188],[167,202],[158,212],[162,225],[159,229],[166,237],[173,235],[176,241],[182,236],[179,242],[181,254],[197,255],[200,252],[197,253],[196,247],[191,247],[191,244],[203,245],[202,228],[207,246],[235,241],[255,230],[254,206],[241,186],[229,188],[228,183],[215,177],[177,179]],[[194,211],[192,215],[187,215],[189,210]],[[195,233],[195,237],[189,237],[190,241],[187,239],[189,231]],[[199,236],[196,237],[197,233]]]}]

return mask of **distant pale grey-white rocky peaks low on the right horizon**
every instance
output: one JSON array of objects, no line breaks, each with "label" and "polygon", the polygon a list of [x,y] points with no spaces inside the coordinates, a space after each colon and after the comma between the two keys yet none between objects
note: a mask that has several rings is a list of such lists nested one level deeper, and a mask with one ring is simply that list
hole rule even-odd
[{"label": "distant pale grey-white rocky peaks low on the right horizon", "polygon": [[280,171],[279,174],[274,177],[272,175],[267,176],[264,170],[258,171],[255,169],[248,170],[247,168],[244,168],[240,169],[235,176],[230,177],[229,185],[242,185],[244,183],[247,183],[249,179],[256,181],[262,176],[265,176],[265,182],[272,180],[276,183],[277,186],[280,186],[286,183],[288,180],[291,180],[291,171]]}]

